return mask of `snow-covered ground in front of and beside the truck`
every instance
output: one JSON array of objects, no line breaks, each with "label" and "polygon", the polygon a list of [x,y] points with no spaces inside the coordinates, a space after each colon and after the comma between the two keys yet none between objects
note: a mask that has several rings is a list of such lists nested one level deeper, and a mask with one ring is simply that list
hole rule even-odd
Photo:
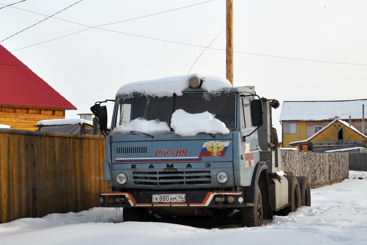
[{"label": "snow-covered ground in front of and beside the truck", "polygon": [[262,227],[119,223],[122,209],[93,208],[0,224],[0,244],[367,244],[367,172],[350,171],[349,177],[311,190],[311,207]]}]

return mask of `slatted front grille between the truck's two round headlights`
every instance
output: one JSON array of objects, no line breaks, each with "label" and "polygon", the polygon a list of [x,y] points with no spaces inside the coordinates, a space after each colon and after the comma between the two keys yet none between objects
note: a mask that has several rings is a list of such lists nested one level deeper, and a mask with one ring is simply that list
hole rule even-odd
[{"label": "slatted front grille between the truck's two round headlights", "polygon": [[210,171],[133,172],[135,185],[210,184]]}]

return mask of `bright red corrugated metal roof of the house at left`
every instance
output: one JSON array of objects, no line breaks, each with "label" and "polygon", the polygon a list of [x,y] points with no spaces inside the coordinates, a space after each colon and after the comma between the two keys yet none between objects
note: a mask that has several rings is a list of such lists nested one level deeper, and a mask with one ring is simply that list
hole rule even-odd
[{"label": "bright red corrugated metal roof of the house at left", "polygon": [[74,105],[1,45],[0,105],[76,110]]}]

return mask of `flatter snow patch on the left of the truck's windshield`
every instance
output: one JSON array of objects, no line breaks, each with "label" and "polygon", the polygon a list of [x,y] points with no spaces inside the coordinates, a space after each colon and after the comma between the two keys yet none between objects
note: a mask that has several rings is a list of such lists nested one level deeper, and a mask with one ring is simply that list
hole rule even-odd
[{"label": "flatter snow patch on the left of the truck's windshield", "polygon": [[130,131],[138,131],[146,134],[166,134],[171,132],[166,122],[137,118],[129,123],[116,127],[112,130],[111,135],[130,134]]}]

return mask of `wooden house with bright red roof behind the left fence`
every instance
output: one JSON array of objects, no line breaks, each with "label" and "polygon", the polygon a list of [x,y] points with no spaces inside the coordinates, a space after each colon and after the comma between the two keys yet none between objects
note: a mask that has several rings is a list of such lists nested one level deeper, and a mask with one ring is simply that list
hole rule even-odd
[{"label": "wooden house with bright red roof behind the left fence", "polygon": [[0,45],[0,124],[36,130],[37,122],[64,119],[68,100]]}]

